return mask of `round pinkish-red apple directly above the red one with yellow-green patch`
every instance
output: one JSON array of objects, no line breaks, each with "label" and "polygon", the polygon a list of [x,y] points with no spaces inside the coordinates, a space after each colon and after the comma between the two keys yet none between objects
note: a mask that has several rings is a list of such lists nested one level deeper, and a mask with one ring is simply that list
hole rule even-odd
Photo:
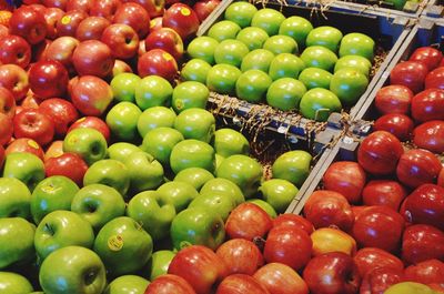
[{"label": "round pinkish-red apple directly above the red one with yellow-green patch", "polygon": [[107,44],[98,40],[88,40],[75,48],[72,63],[79,75],[105,78],[114,67],[114,58]]}]

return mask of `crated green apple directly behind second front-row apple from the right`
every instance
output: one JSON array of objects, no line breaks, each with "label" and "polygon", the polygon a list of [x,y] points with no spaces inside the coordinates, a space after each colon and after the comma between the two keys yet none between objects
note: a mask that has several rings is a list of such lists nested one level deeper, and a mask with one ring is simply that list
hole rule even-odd
[{"label": "crated green apple directly behind second front-row apple from the right", "polygon": [[273,81],[281,78],[297,79],[301,71],[305,69],[305,63],[299,57],[290,53],[276,55],[270,64],[269,74]]}]

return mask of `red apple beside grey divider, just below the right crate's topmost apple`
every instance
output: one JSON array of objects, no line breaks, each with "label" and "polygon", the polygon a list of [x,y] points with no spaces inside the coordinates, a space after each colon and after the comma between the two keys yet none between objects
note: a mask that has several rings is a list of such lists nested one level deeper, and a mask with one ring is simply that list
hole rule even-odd
[{"label": "red apple beside grey divider, just below the right crate's topmost apple", "polygon": [[391,84],[407,87],[413,93],[418,93],[424,89],[427,67],[417,61],[403,61],[394,67],[390,73]]}]

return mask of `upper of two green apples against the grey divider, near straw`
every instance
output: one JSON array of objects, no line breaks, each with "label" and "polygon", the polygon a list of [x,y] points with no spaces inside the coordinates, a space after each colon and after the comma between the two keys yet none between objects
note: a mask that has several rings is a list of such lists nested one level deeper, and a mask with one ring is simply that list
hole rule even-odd
[{"label": "upper of two green apples against the grey divider, near straw", "polygon": [[273,179],[286,180],[295,186],[301,186],[309,176],[312,159],[312,155],[303,150],[283,153],[272,165]]}]

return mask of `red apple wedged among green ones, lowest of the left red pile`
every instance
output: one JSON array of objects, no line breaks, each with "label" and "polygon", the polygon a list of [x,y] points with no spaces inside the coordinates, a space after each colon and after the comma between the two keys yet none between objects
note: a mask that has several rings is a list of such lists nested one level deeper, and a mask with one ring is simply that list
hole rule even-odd
[{"label": "red apple wedged among green ones, lowest of the left red pile", "polygon": [[44,162],[47,176],[64,175],[74,181],[79,186],[83,185],[83,175],[88,170],[88,164],[75,153],[63,153],[58,158],[48,159]]}]

